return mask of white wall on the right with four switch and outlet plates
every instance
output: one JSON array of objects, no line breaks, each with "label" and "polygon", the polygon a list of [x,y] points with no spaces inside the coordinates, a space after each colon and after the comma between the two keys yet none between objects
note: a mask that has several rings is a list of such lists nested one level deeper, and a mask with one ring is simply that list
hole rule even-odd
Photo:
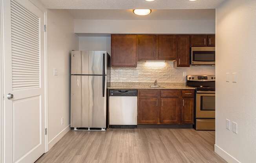
[{"label": "white wall on the right with four switch and outlet plates", "polygon": [[[226,0],[216,9],[216,146],[229,163],[256,162],[256,1]],[[238,82],[226,82],[226,73]],[[238,134],[225,120],[238,123]]]}]

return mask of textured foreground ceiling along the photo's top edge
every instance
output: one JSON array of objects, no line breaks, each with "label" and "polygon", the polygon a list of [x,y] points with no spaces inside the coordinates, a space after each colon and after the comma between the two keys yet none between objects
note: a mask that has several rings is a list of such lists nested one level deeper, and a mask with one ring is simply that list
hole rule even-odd
[{"label": "textured foreground ceiling along the photo's top edge", "polygon": [[40,0],[48,9],[215,9],[225,0]]}]

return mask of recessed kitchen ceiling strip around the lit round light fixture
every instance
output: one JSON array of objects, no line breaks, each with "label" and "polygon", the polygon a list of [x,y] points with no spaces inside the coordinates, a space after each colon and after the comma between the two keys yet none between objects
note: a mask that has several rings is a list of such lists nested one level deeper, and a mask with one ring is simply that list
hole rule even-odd
[{"label": "recessed kitchen ceiling strip around the lit round light fixture", "polygon": [[75,19],[92,20],[215,20],[215,9],[152,10],[148,16],[138,16],[132,10],[68,9]]}]

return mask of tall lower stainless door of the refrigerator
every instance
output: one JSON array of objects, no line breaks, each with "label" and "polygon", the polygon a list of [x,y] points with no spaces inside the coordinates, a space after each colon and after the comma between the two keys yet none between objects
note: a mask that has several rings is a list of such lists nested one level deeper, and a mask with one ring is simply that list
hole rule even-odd
[{"label": "tall lower stainless door of the refrigerator", "polygon": [[106,80],[102,85],[103,77],[71,75],[71,127],[106,128]]}]

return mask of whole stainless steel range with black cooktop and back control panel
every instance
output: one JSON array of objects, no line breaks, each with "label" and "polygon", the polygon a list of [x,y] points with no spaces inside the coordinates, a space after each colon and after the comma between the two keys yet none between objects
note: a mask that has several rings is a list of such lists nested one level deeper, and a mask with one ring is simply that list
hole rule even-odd
[{"label": "whole stainless steel range with black cooktop and back control panel", "polygon": [[215,76],[190,75],[186,85],[196,87],[196,130],[215,130]]}]

